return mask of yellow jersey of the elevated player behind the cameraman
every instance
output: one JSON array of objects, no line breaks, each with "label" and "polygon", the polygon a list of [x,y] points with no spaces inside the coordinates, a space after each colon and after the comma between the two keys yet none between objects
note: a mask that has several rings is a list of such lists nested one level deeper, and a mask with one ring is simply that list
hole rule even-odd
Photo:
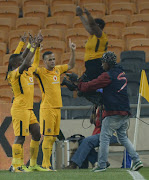
[{"label": "yellow jersey of the elevated player behind the cameraman", "polygon": [[84,60],[92,60],[101,58],[106,52],[108,46],[107,35],[102,32],[102,36],[98,38],[95,35],[91,35],[85,44],[85,57]]}]

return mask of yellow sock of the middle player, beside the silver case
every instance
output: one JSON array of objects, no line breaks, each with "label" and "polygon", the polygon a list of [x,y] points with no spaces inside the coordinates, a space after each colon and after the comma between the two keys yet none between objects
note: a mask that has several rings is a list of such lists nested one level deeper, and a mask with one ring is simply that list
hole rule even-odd
[{"label": "yellow sock of the middle player, beside the silver case", "polygon": [[49,168],[51,166],[50,157],[52,154],[53,143],[56,138],[53,136],[44,136],[44,140],[42,143],[42,152],[43,152],[43,161],[42,167]]}]

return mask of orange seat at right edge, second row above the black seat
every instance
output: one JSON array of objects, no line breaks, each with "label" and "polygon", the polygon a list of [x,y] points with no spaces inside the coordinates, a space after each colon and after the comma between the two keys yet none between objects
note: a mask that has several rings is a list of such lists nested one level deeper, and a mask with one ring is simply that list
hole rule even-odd
[{"label": "orange seat at right edge, second row above the black seat", "polygon": [[128,50],[128,45],[130,40],[136,38],[146,38],[147,35],[148,35],[147,29],[143,26],[125,27],[122,30],[122,38],[125,40],[125,47],[126,47],[125,50]]}]

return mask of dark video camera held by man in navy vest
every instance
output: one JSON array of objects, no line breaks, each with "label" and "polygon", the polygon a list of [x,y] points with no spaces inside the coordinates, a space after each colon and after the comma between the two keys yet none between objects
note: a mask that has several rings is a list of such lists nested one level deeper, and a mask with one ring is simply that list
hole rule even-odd
[{"label": "dark video camera held by man in navy vest", "polygon": [[81,92],[78,89],[78,86],[75,84],[76,82],[88,82],[89,79],[87,75],[84,73],[80,78],[78,78],[78,75],[75,73],[66,73],[66,77],[64,77],[61,85],[66,85],[67,88],[70,91],[77,91],[77,94],[79,97],[84,97],[88,101],[92,102],[96,106],[100,106],[103,104],[103,98],[102,98],[102,93],[99,91],[93,91],[93,92]]}]

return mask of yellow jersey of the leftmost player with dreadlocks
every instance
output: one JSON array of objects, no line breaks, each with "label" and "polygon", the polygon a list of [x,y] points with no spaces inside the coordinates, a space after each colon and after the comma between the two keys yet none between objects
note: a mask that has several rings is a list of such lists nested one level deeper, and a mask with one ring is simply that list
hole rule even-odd
[{"label": "yellow jersey of the leftmost player with dreadlocks", "polygon": [[8,74],[8,82],[11,84],[14,93],[13,109],[33,109],[34,80],[32,67],[23,74],[19,68]]}]

